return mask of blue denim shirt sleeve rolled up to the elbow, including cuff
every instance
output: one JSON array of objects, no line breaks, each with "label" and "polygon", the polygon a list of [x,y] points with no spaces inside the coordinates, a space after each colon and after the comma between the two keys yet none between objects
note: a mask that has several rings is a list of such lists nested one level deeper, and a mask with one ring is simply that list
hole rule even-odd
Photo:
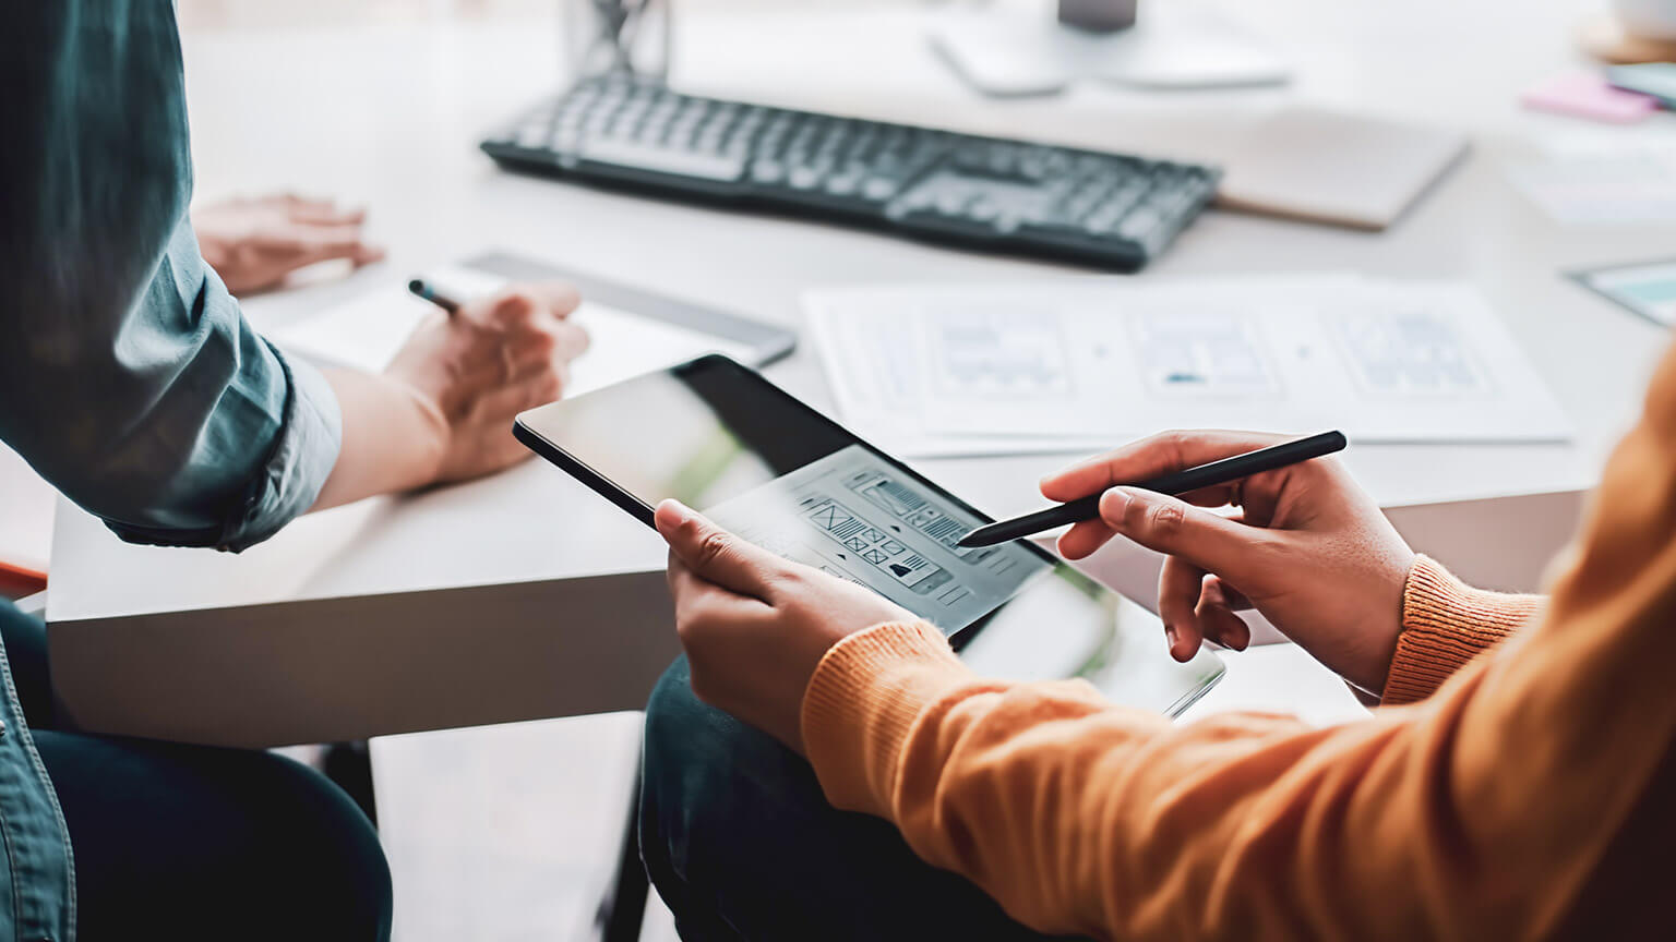
[{"label": "blue denim shirt sleeve rolled up to the elbow, including cuff", "polygon": [[313,505],[342,419],[198,251],[173,3],[8,18],[0,437],[126,540],[265,540]]}]

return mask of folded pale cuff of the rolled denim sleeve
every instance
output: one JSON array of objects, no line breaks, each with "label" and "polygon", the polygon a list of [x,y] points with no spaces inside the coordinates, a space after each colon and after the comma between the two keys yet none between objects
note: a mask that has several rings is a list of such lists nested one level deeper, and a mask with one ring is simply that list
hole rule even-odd
[{"label": "folded pale cuff of the rolled denim sleeve", "polygon": [[285,370],[285,424],[268,463],[245,491],[243,513],[228,520],[218,546],[240,551],[280,531],[313,506],[344,444],[337,394],[320,370],[302,360],[273,355]]}]

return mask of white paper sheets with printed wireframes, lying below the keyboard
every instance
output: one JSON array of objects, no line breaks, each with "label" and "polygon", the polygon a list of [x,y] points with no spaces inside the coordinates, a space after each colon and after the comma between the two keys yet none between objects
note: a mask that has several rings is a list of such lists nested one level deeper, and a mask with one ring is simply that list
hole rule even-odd
[{"label": "white paper sheets with printed wireframes, lying below the keyboard", "polygon": [[806,298],[845,419],[908,454],[1088,451],[1166,427],[1562,441],[1470,290],[1351,277],[1068,280]]}]

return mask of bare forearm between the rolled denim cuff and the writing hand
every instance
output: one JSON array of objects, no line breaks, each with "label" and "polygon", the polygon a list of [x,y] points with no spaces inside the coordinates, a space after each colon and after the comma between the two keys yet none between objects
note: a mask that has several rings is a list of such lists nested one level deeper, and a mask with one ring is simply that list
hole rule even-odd
[{"label": "bare forearm between the rolled denim cuff and the writing hand", "polygon": [[416,391],[382,375],[325,370],[344,414],[344,446],[313,510],[436,479],[447,424]]}]

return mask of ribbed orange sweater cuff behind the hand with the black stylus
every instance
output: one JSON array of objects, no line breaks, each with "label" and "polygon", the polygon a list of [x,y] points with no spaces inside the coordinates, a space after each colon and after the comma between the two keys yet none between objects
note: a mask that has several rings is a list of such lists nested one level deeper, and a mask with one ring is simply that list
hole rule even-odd
[{"label": "ribbed orange sweater cuff behind the hand with the black stylus", "polygon": [[1384,681],[1383,702],[1430,697],[1455,670],[1530,622],[1540,595],[1473,588],[1436,560],[1420,556],[1403,587],[1403,634]]}]

